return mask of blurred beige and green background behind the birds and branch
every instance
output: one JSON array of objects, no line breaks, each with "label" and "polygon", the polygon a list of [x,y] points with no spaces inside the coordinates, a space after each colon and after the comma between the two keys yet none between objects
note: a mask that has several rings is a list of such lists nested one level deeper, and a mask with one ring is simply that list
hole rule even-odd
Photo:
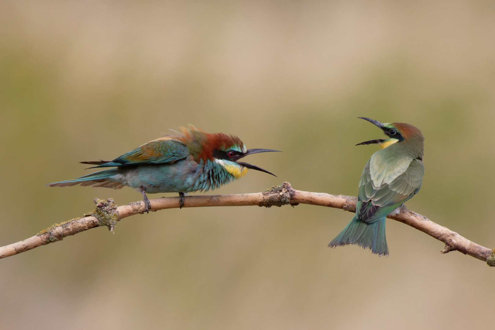
[{"label": "blurred beige and green background behind the birds and branch", "polygon": [[[0,2],[0,245],[133,189],[44,184],[90,173],[188,123],[259,154],[208,193],[356,195],[383,134],[426,138],[407,206],[495,246],[495,2]],[[162,195],[150,195],[156,198]],[[493,329],[494,270],[389,220],[391,255],[328,249],[339,209],[137,215],[0,260],[0,329]]]}]

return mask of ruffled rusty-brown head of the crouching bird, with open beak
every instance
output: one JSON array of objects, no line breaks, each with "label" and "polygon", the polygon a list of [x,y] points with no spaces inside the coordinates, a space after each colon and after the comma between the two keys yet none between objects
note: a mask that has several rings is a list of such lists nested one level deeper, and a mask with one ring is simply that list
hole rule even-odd
[{"label": "ruffled rusty-brown head of the crouching bird, with open beak", "polygon": [[232,174],[236,179],[243,177],[248,169],[265,172],[276,176],[256,165],[240,162],[239,160],[247,155],[280,151],[272,149],[247,149],[246,145],[234,135],[224,133],[206,133],[194,126],[188,129],[182,128],[182,141],[188,146],[191,155],[196,161],[210,160],[222,166],[227,172]]}]

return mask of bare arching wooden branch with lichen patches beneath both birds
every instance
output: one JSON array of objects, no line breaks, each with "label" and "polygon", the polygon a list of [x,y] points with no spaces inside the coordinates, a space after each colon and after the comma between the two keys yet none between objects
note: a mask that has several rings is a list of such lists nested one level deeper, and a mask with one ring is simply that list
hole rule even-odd
[{"label": "bare arching wooden branch with lichen patches beneath both birds", "polygon": [[[289,183],[285,182],[281,186],[274,186],[272,189],[258,193],[186,196],[183,207],[248,205],[271,207],[288,204],[295,206],[300,203],[334,207],[355,212],[356,201],[356,197],[352,196],[294,190]],[[150,211],[179,207],[179,197],[161,197],[150,199],[150,202]],[[107,200],[95,199],[95,203],[97,204],[97,210],[85,214],[81,218],[72,219],[61,224],[54,224],[36,236],[0,247],[0,258],[9,257],[40,245],[62,240],[66,236],[75,235],[99,226],[107,226],[109,230],[113,230],[117,221],[135,214],[142,214],[145,210],[143,201],[132,202],[119,207],[114,204],[111,198]],[[487,261],[490,266],[495,266],[495,249],[490,250],[489,248],[478,245],[452,232],[448,228],[434,223],[425,216],[408,210],[405,206],[399,214],[388,218],[402,222],[443,241],[445,243],[445,249],[441,253],[457,250],[477,259]]]}]

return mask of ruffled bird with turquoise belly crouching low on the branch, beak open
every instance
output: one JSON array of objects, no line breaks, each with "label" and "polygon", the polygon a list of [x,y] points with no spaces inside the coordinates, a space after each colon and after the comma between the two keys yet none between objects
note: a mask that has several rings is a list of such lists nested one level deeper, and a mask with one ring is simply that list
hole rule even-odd
[{"label": "ruffled bird with turquoise belly crouching low on the branch, beak open", "polygon": [[[81,186],[121,189],[129,186],[143,194],[145,211],[151,208],[146,193],[207,191],[240,179],[247,169],[270,173],[239,159],[272,149],[247,149],[233,135],[206,133],[193,126],[182,128],[179,137],[165,136],[149,141],[114,160],[81,162],[99,167],[117,167],[91,173],[74,180],[47,184],[50,187]],[[275,176],[275,175],[274,175]]]}]

